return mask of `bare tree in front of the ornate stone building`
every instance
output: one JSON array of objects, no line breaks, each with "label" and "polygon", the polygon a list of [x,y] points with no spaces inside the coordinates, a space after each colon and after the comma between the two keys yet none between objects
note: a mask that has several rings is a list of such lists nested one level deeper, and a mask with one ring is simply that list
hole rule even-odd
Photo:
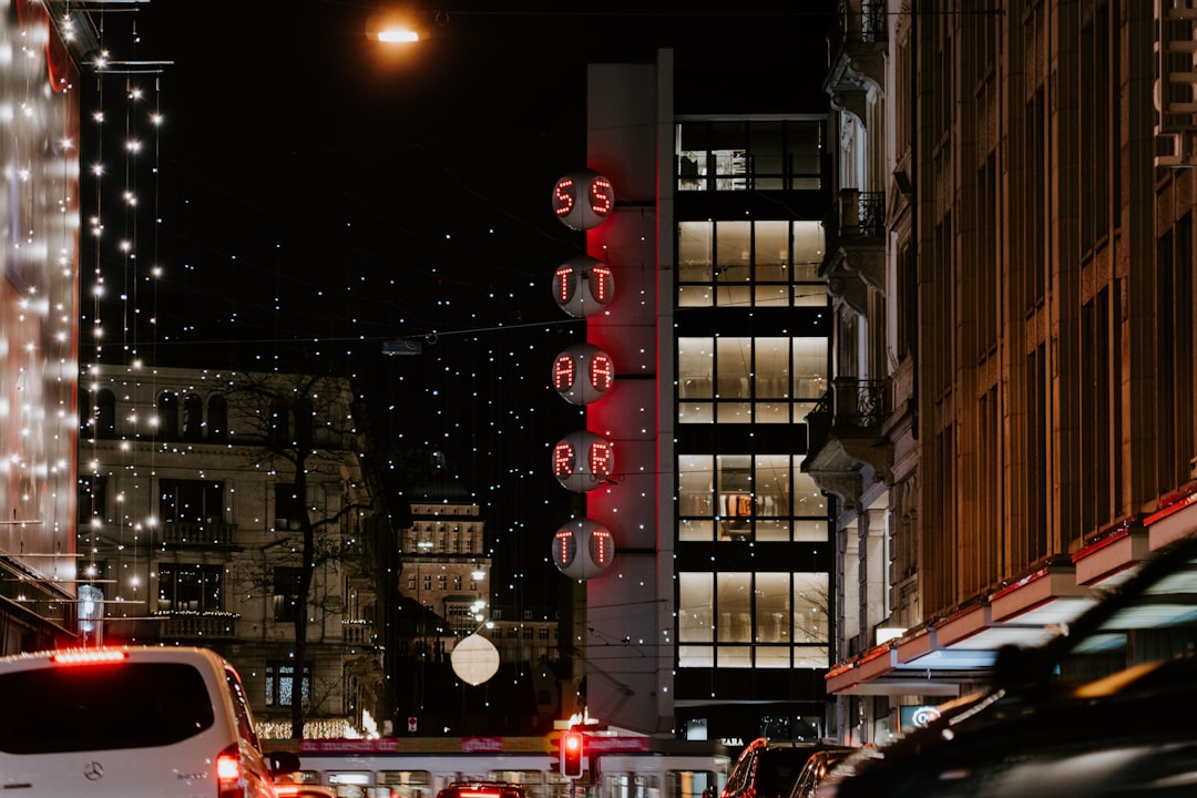
[{"label": "bare tree in front of the ornate stone building", "polygon": [[[286,519],[300,538],[298,579],[294,585],[292,625],[294,668],[291,671],[291,736],[304,736],[306,707],[303,678],[308,662],[308,625],[312,578],[317,567],[344,564],[366,567],[363,546],[346,547],[336,532],[354,513],[373,510],[370,492],[363,483],[357,430],[352,409],[354,398],[341,378],[311,374],[238,374],[229,391],[230,409],[238,414],[242,430],[253,441],[238,443],[253,452],[255,465],[272,469],[290,480]],[[253,445],[245,445],[251,443]],[[320,482],[340,483],[339,506],[329,506]],[[320,494],[320,495],[317,495]],[[279,508],[275,508],[279,517]],[[352,562],[358,559],[358,562]],[[262,578],[269,578],[263,565]],[[315,677],[315,675],[314,675]],[[314,686],[315,687],[315,686]]]}]

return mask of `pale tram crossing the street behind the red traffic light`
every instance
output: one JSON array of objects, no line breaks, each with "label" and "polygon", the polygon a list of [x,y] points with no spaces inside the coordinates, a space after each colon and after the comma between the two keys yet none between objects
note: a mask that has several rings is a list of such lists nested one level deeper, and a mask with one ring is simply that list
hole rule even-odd
[{"label": "pale tram crossing the street behind the red traffic light", "polygon": [[452,781],[509,781],[527,798],[704,798],[718,796],[733,754],[722,743],[588,732],[582,778],[558,767],[557,737],[384,737],[269,741],[300,769],[290,781],[342,798],[436,798]]}]

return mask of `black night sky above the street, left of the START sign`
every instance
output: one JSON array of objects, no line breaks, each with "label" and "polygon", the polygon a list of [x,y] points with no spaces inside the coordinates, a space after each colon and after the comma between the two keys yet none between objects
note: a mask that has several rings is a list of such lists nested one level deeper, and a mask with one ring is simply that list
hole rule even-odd
[{"label": "black night sky above the street, left of the START sign", "polygon": [[[701,65],[735,48],[751,72],[757,56],[802,47],[779,22],[806,20],[742,6],[488,5],[439,4],[425,13],[432,38],[402,57],[366,38],[372,2],[97,13],[114,59],[171,63],[87,86],[105,121],[84,120],[83,160],[103,151],[107,172],[85,177],[84,212],[105,232],[83,270],[101,272],[107,294],[84,300],[85,328],[97,313],[124,328],[102,361],[127,348],[159,365],[353,374],[375,445],[445,449],[482,505],[497,566],[527,574],[509,598],[536,603],[564,579],[548,541],[578,501],[551,477],[548,450],[584,419],[547,379],[585,330],[549,280],[585,242],[553,218],[549,191],[585,166],[585,65],[648,61],[663,45]],[[759,72],[753,83],[785,93]],[[752,83],[712,71],[703,85]],[[128,103],[134,87],[144,97]],[[122,164],[130,135],[142,148]],[[388,340],[423,354],[387,357]]]}]

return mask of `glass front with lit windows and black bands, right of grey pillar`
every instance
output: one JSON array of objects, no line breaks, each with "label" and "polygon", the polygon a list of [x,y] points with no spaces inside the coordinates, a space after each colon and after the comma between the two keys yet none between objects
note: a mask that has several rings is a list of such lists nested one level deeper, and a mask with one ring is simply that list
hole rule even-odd
[{"label": "glass front with lit windows and black bands, right of grey pillar", "polygon": [[819,276],[824,126],[821,117],[676,123],[682,733],[826,730],[833,508],[802,471],[806,415],[831,379]]}]

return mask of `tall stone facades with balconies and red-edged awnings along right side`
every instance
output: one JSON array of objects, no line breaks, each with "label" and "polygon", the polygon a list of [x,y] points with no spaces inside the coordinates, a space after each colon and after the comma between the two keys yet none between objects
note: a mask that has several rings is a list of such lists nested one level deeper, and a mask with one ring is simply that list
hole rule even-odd
[{"label": "tall stone facades with balconies and red-edged awnings along right side", "polygon": [[841,4],[825,86],[845,736],[885,742],[1197,529],[1195,10]]}]

